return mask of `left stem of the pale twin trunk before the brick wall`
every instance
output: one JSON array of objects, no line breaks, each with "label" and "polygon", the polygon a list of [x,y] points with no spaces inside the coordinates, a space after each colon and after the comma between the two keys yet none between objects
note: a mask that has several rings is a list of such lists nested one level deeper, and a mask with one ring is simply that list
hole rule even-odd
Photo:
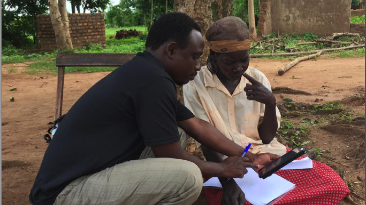
[{"label": "left stem of the pale twin trunk before the brick wall", "polygon": [[48,0],[49,14],[53,31],[55,32],[57,49],[67,48],[66,32],[61,20],[61,13],[57,5],[57,0]]}]

